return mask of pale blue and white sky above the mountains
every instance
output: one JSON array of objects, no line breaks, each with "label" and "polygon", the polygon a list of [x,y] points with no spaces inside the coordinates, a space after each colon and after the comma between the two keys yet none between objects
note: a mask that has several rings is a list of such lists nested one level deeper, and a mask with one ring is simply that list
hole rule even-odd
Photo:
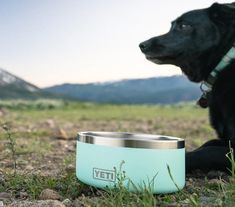
[{"label": "pale blue and white sky above the mountains", "polygon": [[0,0],[0,68],[39,87],[181,74],[147,61],[138,45],[213,2]]}]

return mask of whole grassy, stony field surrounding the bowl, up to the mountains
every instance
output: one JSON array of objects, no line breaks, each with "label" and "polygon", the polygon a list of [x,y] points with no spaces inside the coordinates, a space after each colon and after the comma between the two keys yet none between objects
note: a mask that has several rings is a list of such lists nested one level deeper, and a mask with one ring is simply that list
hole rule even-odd
[{"label": "whole grassy, stony field surrounding the bowl, up to the mountains", "polygon": [[193,104],[2,101],[0,124],[0,206],[235,206],[234,177],[223,172],[188,174],[185,188],[168,195],[99,190],[76,179],[78,131],[177,136],[187,150],[215,138],[207,110]]}]

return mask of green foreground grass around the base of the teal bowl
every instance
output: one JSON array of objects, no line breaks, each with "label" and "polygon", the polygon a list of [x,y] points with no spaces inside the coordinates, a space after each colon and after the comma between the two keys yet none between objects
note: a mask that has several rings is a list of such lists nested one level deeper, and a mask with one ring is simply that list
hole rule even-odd
[{"label": "green foreground grass around the base of the teal bowl", "polygon": [[[234,206],[235,187],[234,182],[218,180],[217,188],[207,188],[208,197],[212,203],[207,206]],[[115,189],[98,190],[77,181],[75,174],[59,177],[43,177],[39,175],[7,175],[5,186],[0,192],[8,191],[18,196],[19,192],[27,192],[30,199],[38,199],[43,189],[50,188],[60,193],[61,200],[79,198],[85,206],[102,207],[150,207],[150,206],[201,206],[200,194],[189,193],[186,190],[169,195],[153,195],[149,189],[142,193],[129,192],[124,187],[118,186]],[[212,190],[210,189],[212,188]],[[205,191],[205,189],[204,189]],[[89,192],[89,196],[87,195]],[[216,202],[216,203],[215,203]]]}]

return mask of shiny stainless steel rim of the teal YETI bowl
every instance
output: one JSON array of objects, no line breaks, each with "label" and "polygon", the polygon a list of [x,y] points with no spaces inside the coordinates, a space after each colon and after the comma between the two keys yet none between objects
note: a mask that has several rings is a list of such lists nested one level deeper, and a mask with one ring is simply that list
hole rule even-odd
[{"label": "shiny stainless steel rim of the teal YETI bowl", "polygon": [[185,147],[182,138],[128,132],[78,132],[77,140],[83,143],[110,147],[145,149],[181,149]]}]

